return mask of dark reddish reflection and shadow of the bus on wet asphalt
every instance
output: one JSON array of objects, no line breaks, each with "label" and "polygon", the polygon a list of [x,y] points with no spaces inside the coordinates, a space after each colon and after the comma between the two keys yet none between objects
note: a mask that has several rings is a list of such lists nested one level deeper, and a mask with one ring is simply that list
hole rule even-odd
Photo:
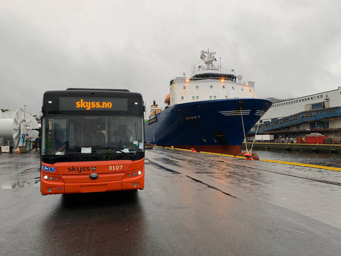
[{"label": "dark reddish reflection and shadow of the bus on wet asphalt", "polygon": [[59,196],[59,205],[42,218],[40,249],[52,255],[132,255],[147,230],[137,193]]}]

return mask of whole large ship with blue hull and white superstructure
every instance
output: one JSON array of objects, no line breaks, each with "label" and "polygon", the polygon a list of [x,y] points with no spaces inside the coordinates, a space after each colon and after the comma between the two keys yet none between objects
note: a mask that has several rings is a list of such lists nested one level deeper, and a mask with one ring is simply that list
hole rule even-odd
[{"label": "whole large ship with blue hull and white superstructure", "polygon": [[202,50],[203,65],[191,77],[176,77],[160,110],[154,102],[145,122],[145,140],[159,146],[241,154],[245,134],[272,102],[256,98],[255,83],[215,64],[215,52]]}]

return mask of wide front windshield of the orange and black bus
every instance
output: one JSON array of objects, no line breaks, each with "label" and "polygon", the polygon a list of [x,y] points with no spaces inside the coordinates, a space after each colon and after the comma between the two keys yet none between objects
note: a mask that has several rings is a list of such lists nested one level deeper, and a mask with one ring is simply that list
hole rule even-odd
[{"label": "wide front windshield of the orange and black bus", "polygon": [[114,160],[115,155],[122,159],[144,151],[142,117],[54,115],[43,118],[42,131],[42,155],[51,159],[78,155],[103,160],[96,156],[109,154]]}]

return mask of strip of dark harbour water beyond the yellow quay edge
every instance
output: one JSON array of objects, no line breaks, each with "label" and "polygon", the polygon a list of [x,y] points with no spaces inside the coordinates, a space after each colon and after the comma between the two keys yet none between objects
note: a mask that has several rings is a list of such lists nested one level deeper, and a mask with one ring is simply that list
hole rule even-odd
[{"label": "strip of dark harbour water beyond the yellow quay edge", "polygon": [[311,165],[331,166],[341,168],[340,154],[321,154],[303,151],[284,150],[255,150],[259,159],[270,159],[278,161],[288,161]]}]

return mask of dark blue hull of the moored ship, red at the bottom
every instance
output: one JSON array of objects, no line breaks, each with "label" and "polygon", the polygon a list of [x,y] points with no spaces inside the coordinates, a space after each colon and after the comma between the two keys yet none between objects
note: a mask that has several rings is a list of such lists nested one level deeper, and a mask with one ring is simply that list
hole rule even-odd
[{"label": "dark blue hull of the moored ship, red at the bottom", "polygon": [[145,123],[145,140],[160,146],[240,154],[242,116],[247,133],[271,105],[269,100],[255,98],[176,104]]}]

